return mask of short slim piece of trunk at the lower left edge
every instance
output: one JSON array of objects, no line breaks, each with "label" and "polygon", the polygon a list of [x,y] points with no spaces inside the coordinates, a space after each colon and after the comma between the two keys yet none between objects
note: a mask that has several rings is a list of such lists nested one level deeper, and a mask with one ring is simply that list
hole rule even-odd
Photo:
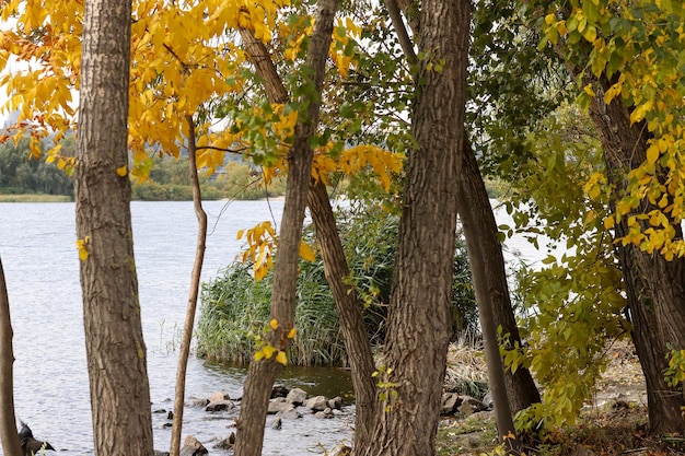
[{"label": "short slim piece of trunk at the lower left edge", "polygon": [[12,350],[10,299],[0,260],[0,440],[7,456],[23,456],[14,414],[14,351]]}]

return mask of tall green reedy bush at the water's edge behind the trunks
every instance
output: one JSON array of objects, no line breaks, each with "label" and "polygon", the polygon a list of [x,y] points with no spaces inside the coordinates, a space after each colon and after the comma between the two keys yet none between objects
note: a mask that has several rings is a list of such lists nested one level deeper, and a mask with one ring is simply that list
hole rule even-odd
[{"label": "tall green reedy bush at the water's edge behind the trunks", "polygon": [[[340,237],[352,280],[363,303],[363,317],[372,346],[385,339],[385,317],[392,287],[398,219],[382,210],[352,211],[341,218]],[[307,231],[306,237],[313,233]],[[453,339],[477,328],[477,308],[471,285],[465,248],[460,245],[454,264],[452,309]],[[298,279],[298,336],[288,360],[299,365],[345,365],[345,347],[338,316],[323,261],[300,261]],[[198,355],[244,363],[254,353],[253,340],[269,318],[272,272],[259,282],[252,266],[230,265],[220,277],[205,285],[198,323]]]}]

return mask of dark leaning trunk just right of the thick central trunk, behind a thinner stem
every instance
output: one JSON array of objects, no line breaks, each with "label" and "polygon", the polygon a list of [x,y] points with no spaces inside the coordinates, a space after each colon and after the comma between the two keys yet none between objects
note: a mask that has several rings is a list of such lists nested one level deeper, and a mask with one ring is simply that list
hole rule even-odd
[{"label": "dark leaning trunk just right of the thick central trunk, behind a thinner stem", "polygon": [[[495,327],[501,326],[502,335],[509,335],[509,342],[513,346],[521,342],[519,326],[511,306],[509,284],[507,283],[507,270],[502,246],[497,238],[498,227],[492,207],[485,187],[485,182],[478,169],[476,155],[468,141],[464,141],[464,153],[462,155],[462,167],[460,183],[462,187],[463,203],[460,214],[464,211],[471,212],[471,218],[476,224],[475,234],[479,237],[479,250],[487,280],[488,299],[492,305]],[[462,215],[463,217],[463,215]],[[471,254],[469,254],[471,258]],[[473,262],[473,259],[472,259]],[[483,320],[481,320],[483,324]],[[539,402],[539,391],[531,371],[519,367],[515,374],[510,370],[504,371],[504,382],[507,385],[507,396],[509,408],[512,413],[529,408],[533,404]]]}]

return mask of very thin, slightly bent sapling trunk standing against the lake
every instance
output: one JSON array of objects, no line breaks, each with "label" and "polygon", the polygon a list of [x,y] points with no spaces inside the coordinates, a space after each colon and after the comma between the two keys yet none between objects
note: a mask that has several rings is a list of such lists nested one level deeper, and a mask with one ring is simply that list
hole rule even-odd
[{"label": "very thin, slightly bent sapling trunk standing against the lake", "polygon": [[176,396],[174,398],[174,421],[172,426],[171,456],[181,454],[181,433],[183,430],[183,411],[186,391],[186,372],[188,369],[188,356],[190,354],[190,342],[193,340],[193,327],[195,325],[195,312],[197,311],[197,297],[200,290],[200,277],[202,274],[202,264],[205,261],[205,249],[207,246],[207,213],[202,209],[202,192],[200,182],[197,177],[197,149],[195,142],[195,121],[191,115],[186,115],[188,124],[188,164],[190,171],[190,183],[193,186],[193,203],[195,215],[197,217],[197,247],[195,250],[195,264],[190,278],[190,296],[186,309],[186,319],[183,327],[183,340],[178,353],[178,369],[176,372]]}]

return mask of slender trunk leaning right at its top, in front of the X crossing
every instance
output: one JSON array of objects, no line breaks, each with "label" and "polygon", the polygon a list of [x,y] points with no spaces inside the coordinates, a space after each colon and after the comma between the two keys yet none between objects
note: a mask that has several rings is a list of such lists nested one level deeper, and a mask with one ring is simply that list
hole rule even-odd
[{"label": "slender trunk leaning right at its top, in front of the X crossing", "polygon": [[[304,100],[300,100],[306,102],[307,107],[306,112],[300,112],[294,142],[288,157],[286,204],[271,291],[270,318],[277,320],[278,328],[267,339],[271,346],[280,350],[287,349],[288,339],[282,336],[283,332],[287,334],[293,327],[294,320],[300,239],[312,173],[313,151],[307,140],[314,135],[318,124],[321,90],[336,10],[337,0],[318,1],[316,22],[306,57],[306,66],[312,70],[312,75],[311,79],[307,78],[310,84],[305,90]],[[268,360],[253,361],[249,364],[241,416],[237,422],[236,456],[258,456],[262,454],[265,419],[271,387],[282,365],[274,356]]]}]

